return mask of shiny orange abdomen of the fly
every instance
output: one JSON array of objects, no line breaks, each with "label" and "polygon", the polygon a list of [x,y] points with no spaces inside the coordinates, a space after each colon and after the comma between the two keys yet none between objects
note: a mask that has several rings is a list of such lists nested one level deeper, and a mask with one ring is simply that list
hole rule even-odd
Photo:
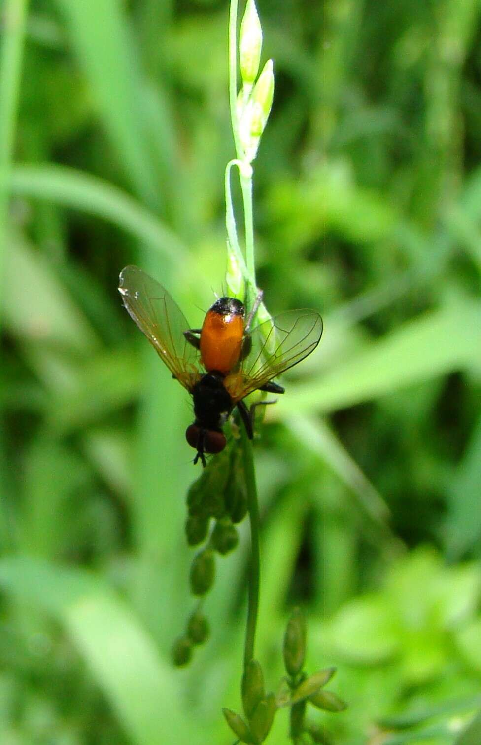
[{"label": "shiny orange abdomen of the fly", "polygon": [[238,363],[243,339],[243,315],[210,310],[200,332],[200,356],[208,373],[227,375]]}]

